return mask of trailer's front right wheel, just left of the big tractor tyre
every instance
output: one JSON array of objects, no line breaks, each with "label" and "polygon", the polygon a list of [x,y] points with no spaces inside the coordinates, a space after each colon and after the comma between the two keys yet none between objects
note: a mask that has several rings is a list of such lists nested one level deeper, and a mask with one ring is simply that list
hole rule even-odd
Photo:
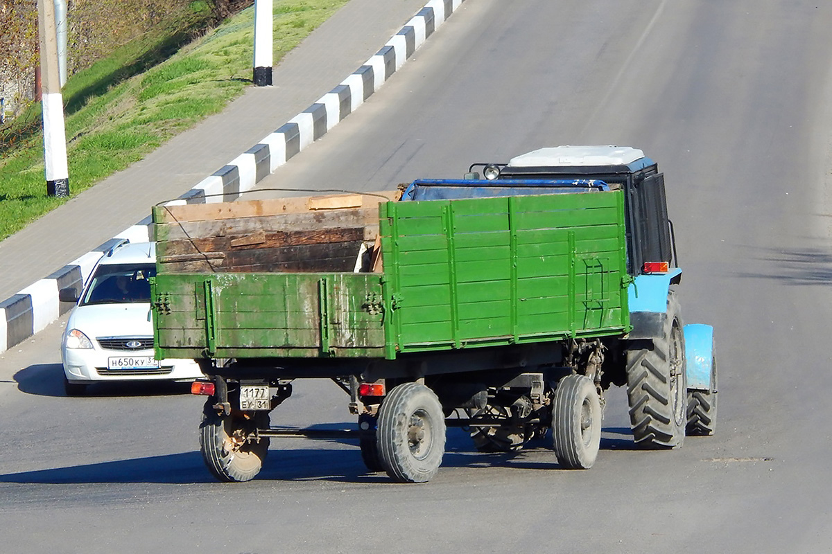
[{"label": "trailer's front right wheel, just left of the big tractor tyre", "polygon": [[552,448],[565,469],[589,469],[601,447],[601,400],[592,379],[567,375],[552,402]]}]

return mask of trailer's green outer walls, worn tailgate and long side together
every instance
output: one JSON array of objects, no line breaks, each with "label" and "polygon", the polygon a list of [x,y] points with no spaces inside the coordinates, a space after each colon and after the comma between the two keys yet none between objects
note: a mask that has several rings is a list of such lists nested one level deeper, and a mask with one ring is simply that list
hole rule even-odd
[{"label": "trailer's green outer walls, worn tailgate and long side together", "polygon": [[629,328],[623,195],[379,205],[384,274],[177,273],[159,357],[368,357]]}]

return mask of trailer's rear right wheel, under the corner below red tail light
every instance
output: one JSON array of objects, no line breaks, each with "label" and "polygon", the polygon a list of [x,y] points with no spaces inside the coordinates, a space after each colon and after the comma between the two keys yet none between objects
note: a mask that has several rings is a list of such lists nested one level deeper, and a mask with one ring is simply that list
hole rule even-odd
[{"label": "trailer's rear right wheel, under the corner below red tail light", "polygon": [[445,453],[442,404],[424,385],[403,383],[390,391],[379,408],[379,460],[400,483],[433,478]]}]

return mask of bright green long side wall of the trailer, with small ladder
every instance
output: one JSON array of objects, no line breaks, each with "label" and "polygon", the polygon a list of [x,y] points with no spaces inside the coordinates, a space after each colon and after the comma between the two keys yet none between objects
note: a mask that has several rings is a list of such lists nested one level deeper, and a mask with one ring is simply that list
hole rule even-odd
[{"label": "bright green long side wall of the trailer, with small ladder", "polygon": [[380,213],[388,357],[629,327],[620,191],[387,203]]}]

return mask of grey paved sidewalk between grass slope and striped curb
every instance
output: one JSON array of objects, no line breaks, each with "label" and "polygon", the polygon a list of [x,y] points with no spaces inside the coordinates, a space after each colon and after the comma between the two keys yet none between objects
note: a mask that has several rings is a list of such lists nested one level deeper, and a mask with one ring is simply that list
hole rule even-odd
[{"label": "grey paved sidewalk between grass slope and striped curb", "polygon": [[[351,0],[223,112],[0,242],[0,301],[176,199],[373,56],[426,0]],[[44,185],[45,186],[45,185]],[[72,175],[70,175],[72,188]],[[0,351],[2,351],[0,345]]]}]

